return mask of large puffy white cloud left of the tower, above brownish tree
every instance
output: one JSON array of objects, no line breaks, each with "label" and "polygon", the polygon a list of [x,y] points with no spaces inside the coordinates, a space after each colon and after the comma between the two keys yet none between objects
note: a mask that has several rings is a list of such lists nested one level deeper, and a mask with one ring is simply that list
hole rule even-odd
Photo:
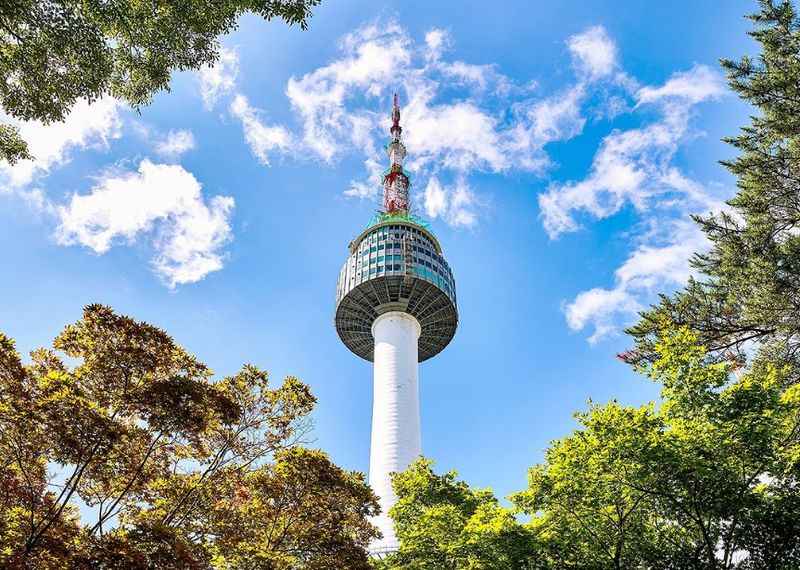
[{"label": "large puffy white cloud left of the tower, above brownish tree", "polygon": [[174,288],[222,269],[233,206],[228,196],[204,198],[181,166],[143,160],[136,172],[102,176],[88,194],[73,194],[58,207],[56,238],[103,254],[148,236],[154,269]]}]

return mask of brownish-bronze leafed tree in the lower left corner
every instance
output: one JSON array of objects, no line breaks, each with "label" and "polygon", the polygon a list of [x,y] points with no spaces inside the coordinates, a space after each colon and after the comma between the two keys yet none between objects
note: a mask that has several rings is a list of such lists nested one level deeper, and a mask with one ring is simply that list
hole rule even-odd
[{"label": "brownish-bronze leafed tree in the lower left corner", "polygon": [[[248,549],[263,561],[248,568],[364,560],[376,499],[362,475],[297,447],[315,402],[297,379],[272,388],[245,366],[213,382],[164,331],[101,305],[53,346],[77,364],[39,349],[23,365],[0,335],[0,565],[233,569]],[[314,501],[338,510],[318,516]],[[265,542],[270,524],[280,539]]]}]

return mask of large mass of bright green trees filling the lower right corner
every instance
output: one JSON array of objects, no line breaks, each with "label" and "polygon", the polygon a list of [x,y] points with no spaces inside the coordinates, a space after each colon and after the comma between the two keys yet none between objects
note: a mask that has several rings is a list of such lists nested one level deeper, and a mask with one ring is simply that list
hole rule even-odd
[{"label": "large mass of bright green trees filling the lower right corner", "polygon": [[557,568],[798,567],[800,385],[732,377],[686,328],[660,338],[661,405],[580,414],[512,500]]}]

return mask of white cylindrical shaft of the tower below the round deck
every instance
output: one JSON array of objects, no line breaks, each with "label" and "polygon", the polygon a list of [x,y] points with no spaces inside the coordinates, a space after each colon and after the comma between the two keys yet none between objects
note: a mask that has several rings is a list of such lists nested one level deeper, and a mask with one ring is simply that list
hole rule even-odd
[{"label": "white cylindrical shaft of the tower below the round deck", "polygon": [[390,474],[403,471],[421,452],[418,341],[421,327],[408,313],[392,311],[372,324],[375,339],[372,445],[369,484],[378,495],[381,514],[373,523],[383,539],[372,550],[397,547],[389,509],[397,501]]}]

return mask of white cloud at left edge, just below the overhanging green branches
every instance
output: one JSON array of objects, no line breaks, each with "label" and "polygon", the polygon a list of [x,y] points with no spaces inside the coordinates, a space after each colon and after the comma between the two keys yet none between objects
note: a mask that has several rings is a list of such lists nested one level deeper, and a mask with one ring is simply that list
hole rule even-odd
[{"label": "white cloud at left edge, just below the overhanging green branches", "polygon": [[120,103],[105,97],[92,104],[78,101],[63,122],[45,125],[39,121],[21,122],[3,116],[0,121],[19,127],[33,160],[13,166],[0,163],[0,191],[27,186],[52,168],[66,164],[74,150],[107,146],[121,132]]}]

